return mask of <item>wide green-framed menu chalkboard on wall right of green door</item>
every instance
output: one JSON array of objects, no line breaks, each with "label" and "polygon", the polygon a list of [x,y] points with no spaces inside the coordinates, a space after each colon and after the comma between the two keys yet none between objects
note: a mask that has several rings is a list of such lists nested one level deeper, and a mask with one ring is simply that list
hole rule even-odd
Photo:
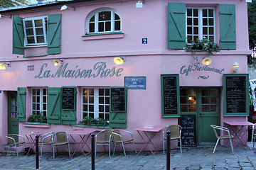
[{"label": "wide green-framed menu chalkboard on wall right of green door", "polygon": [[247,115],[249,85],[247,74],[224,75],[225,115]]}]

